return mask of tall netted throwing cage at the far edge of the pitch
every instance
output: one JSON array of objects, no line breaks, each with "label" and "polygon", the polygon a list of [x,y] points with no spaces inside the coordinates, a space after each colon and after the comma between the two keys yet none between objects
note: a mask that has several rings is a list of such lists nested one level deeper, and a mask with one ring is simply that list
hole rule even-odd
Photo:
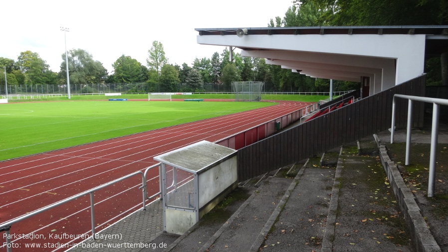
[{"label": "tall netted throwing cage at the far edge of the pitch", "polygon": [[232,82],[235,101],[261,101],[263,86],[264,82],[261,81]]}]

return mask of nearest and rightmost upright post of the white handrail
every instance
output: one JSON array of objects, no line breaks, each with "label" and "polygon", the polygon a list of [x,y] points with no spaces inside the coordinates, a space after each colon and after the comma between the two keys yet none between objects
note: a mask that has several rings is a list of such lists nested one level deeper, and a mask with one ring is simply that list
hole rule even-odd
[{"label": "nearest and rightmost upright post of the white handrail", "polygon": [[436,183],[437,137],[439,134],[439,104],[433,105],[433,127],[431,132],[430,174],[428,178],[428,197],[434,197]]}]

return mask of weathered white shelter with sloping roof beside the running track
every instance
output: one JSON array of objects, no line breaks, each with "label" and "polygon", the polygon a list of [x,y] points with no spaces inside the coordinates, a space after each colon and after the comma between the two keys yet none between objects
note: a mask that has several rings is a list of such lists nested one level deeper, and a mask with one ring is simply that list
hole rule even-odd
[{"label": "weathered white shelter with sloping roof beside the running track", "polygon": [[183,235],[237,186],[236,151],[201,141],[159,156],[164,231]]}]

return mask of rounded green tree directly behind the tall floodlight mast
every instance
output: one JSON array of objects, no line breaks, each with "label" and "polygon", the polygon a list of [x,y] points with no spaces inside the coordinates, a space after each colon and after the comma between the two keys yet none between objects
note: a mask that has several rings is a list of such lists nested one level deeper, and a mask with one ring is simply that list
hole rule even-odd
[{"label": "rounded green tree directly behind the tall floodlight mast", "polygon": [[[66,76],[65,53],[61,54],[62,63],[59,76]],[[68,71],[70,83],[90,84],[100,83],[107,76],[107,70],[103,63],[94,60],[92,54],[83,49],[72,49],[68,51]]]}]

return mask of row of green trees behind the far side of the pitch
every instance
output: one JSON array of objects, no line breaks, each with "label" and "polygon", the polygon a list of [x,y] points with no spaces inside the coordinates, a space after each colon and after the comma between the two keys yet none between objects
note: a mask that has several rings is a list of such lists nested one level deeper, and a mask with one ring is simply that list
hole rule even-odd
[{"label": "row of green trees behind the far side of the pitch", "polygon": [[[208,58],[195,58],[191,66],[170,64],[165,56],[163,44],[154,41],[148,50],[146,64],[142,64],[131,56],[121,55],[112,64],[113,71],[108,73],[103,64],[94,60],[84,49],[71,49],[68,52],[68,69],[70,84],[96,83],[147,83],[145,90],[134,92],[203,92],[204,84],[221,86],[222,91],[230,91],[232,81],[263,81],[265,91],[288,92],[324,92],[328,88],[314,78],[292,72],[282,75],[279,66],[268,65],[264,59],[242,57],[233,53],[233,61],[229,62],[229,50],[215,52]],[[66,84],[65,53],[61,54],[60,71],[49,70],[48,64],[38,53],[20,52],[17,60],[0,57],[0,66],[6,68],[8,85]],[[0,75],[0,83],[4,75]],[[335,90],[336,91],[336,90]],[[93,92],[86,85],[83,93]]]}]

